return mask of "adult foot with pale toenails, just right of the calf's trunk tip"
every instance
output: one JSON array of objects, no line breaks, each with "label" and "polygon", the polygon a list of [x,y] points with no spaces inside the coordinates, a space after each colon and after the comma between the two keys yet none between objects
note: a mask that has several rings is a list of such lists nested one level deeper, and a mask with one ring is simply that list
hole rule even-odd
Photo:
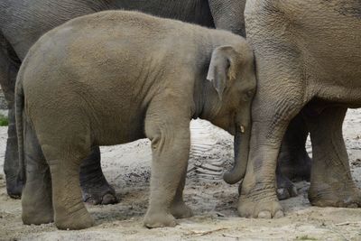
[{"label": "adult foot with pale toenails, just right of the calf's trunk tip", "polygon": [[282,206],[275,195],[265,199],[264,192],[260,194],[241,194],[238,200],[238,214],[243,218],[282,218]]}]

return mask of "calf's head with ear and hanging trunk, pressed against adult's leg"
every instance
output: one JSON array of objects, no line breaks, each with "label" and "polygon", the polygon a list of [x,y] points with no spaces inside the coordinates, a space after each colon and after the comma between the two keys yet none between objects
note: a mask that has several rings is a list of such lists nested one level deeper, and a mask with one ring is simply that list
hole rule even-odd
[{"label": "calf's head with ear and hanging trunk, pressed against adult's leg", "polygon": [[225,173],[228,183],[245,175],[251,133],[251,104],[255,96],[253,51],[246,42],[221,46],[213,51],[207,79],[218,93],[218,105],[212,118],[214,125],[235,135],[235,166]]}]

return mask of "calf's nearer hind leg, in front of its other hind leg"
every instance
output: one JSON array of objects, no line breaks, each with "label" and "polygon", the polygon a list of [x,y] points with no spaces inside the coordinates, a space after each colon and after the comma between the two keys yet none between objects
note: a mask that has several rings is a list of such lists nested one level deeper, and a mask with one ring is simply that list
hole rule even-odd
[{"label": "calf's nearer hind leg, in front of its other hind leg", "polygon": [[[90,148],[81,145],[87,141],[74,137],[69,139],[67,144],[63,144],[56,138],[51,139],[49,135],[42,134],[40,143],[51,167],[52,203],[56,227],[60,229],[92,227],[95,222],[81,199],[79,184],[80,163],[91,151]],[[74,144],[77,144],[76,147]]]}]

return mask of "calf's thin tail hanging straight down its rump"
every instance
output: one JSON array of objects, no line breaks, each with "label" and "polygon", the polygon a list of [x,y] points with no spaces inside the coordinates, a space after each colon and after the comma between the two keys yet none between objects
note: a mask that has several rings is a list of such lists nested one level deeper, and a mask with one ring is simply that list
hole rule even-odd
[{"label": "calf's thin tail hanging straight down its rump", "polygon": [[23,78],[22,73],[19,71],[18,77],[16,79],[15,85],[15,120],[16,120],[16,132],[17,132],[17,141],[19,147],[19,168],[20,168],[20,178],[25,181],[25,161],[23,153],[23,107],[24,107],[24,97],[23,97]]}]

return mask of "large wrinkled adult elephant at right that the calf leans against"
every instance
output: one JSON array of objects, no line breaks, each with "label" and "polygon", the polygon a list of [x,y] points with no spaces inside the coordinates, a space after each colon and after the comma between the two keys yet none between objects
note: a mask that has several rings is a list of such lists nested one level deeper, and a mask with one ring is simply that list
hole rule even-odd
[{"label": "large wrinkled adult elephant at right that the calf leans against", "polygon": [[360,1],[248,1],[245,26],[258,87],[239,214],[283,216],[274,171],[282,136],[302,109],[313,150],[310,203],[360,207],[342,136],[347,107],[361,107]]}]

